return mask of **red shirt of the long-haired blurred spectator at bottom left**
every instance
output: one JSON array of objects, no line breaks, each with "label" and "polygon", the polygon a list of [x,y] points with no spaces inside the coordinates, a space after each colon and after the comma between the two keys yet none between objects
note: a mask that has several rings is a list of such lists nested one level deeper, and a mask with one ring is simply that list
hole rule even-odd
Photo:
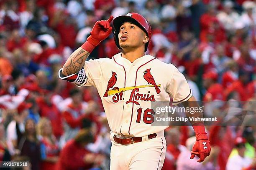
[{"label": "red shirt of the long-haired blurred spectator at bottom left", "polygon": [[[59,147],[56,143],[52,144],[47,138],[41,140],[41,145],[44,145],[44,153],[46,158],[51,158],[54,156],[59,156]],[[41,147],[42,148],[42,147]],[[42,150],[41,150],[42,152]],[[41,153],[42,155],[42,153]],[[42,160],[41,170],[55,170],[56,163],[51,163],[48,161]]]}]

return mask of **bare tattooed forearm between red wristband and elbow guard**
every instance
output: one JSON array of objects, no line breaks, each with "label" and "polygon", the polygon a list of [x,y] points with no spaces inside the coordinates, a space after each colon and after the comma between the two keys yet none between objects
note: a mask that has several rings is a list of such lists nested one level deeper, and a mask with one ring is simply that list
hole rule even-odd
[{"label": "bare tattooed forearm between red wristband and elbow guard", "polygon": [[84,66],[84,62],[89,55],[90,53],[88,51],[82,49],[82,47],[79,47],[65,62],[64,66],[62,67],[62,74],[67,76],[79,72],[79,70],[81,70],[81,68]]}]

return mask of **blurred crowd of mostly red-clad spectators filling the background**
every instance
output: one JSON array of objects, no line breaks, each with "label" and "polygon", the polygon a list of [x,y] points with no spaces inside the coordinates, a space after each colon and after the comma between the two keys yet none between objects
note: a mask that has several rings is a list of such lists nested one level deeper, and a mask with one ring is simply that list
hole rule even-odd
[{"label": "blurred crowd of mostly red-clad spectators filling the background", "polygon": [[[97,20],[130,12],[151,24],[147,53],[178,67],[198,101],[228,101],[236,110],[208,105],[208,115],[252,113],[239,126],[206,127],[212,153],[203,163],[189,159],[192,128],[168,128],[163,170],[253,169],[256,3],[249,0],[1,0],[0,161],[109,169],[110,130],[97,90],[59,79],[58,70]],[[89,59],[118,52],[112,34]]]}]

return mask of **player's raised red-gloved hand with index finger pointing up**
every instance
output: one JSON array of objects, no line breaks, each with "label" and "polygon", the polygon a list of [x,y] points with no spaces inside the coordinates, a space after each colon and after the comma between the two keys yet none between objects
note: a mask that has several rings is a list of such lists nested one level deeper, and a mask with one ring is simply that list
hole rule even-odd
[{"label": "player's raised red-gloved hand with index finger pointing up", "polygon": [[97,46],[103,40],[105,40],[112,32],[112,27],[110,26],[111,21],[113,20],[111,15],[108,20],[100,20],[95,23],[90,32],[91,35],[87,38],[92,45]]}]

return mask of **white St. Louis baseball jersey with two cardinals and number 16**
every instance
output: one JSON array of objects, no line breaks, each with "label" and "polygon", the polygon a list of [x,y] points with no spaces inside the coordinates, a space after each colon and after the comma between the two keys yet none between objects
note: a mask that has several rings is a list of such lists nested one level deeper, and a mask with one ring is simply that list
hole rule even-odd
[{"label": "white St. Louis baseball jersey with two cardinals and number 16", "polygon": [[86,61],[77,86],[93,85],[102,99],[110,130],[118,135],[145,136],[167,126],[151,126],[151,102],[179,104],[192,96],[184,75],[172,64],[144,55],[131,62],[121,53],[110,58]]}]

